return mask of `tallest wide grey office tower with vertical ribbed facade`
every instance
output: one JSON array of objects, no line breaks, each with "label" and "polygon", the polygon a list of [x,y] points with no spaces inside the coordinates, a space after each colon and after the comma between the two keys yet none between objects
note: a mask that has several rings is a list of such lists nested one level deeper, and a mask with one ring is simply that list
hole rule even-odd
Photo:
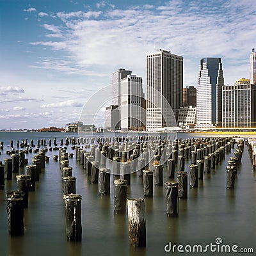
[{"label": "tallest wide grey office tower with vertical ribbed facade", "polygon": [[176,125],[182,106],[183,57],[161,49],[148,53],[146,77],[147,129]]}]

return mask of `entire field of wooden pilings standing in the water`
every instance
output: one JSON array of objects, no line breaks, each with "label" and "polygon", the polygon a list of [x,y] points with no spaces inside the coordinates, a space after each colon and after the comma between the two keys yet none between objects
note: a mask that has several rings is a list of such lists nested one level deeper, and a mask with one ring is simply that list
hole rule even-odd
[{"label": "entire field of wooden pilings standing in the water", "polygon": [[[191,138],[171,141],[165,138],[161,139],[159,136],[66,138],[60,140],[60,146],[70,145],[75,150],[77,164],[83,168],[88,179],[99,186],[100,195],[110,195],[110,177],[111,174],[113,175],[113,212],[114,214],[124,214],[128,211],[130,243],[135,246],[145,246],[146,244],[145,200],[144,198],[127,199],[127,186],[131,184],[131,173],[141,177],[143,182],[141,195],[145,198],[154,196],[154,186],[165,186],[166,215],[177,217],[179,215],[179,199],[188,198],[188,185],[191,188],[196,188],[198,179],[203,179],[204,175],[211,173],[211,170],[225,159],[225,154],[231,152],[235,143],[234,138]],[[2,179],[7,179],[8,175],[12,179],[10,173],[12,174],[13,170],[19,172],[19,167],[24,167],[27,164],[25,154],[32,152],[34,148],[33,152],[38,155],[34,156],[31,165],[26,166],[26,174],[17,175],[17,191],[8,192],[9,221],[16,216],[16,213],[12,214],[12,209],[15,208],[13,205],[18,205],[17,209],[20,211],[20,218],[15,218],[15,220],[21,220],[21,216],[23,216],[20,205],[28,207],[28,191],[35,191],[35,182],[39,180],[42,168],[45,168],[45,161],[49,161],[45,152],[58,150],[59,154],[53,156],[53,161],[60,163],[67,239],[81,241],[82,196],[76,194],[76,177],[72,173],[73,168],[69,166],[69,159],[73,157],[73,154],[68,154],[67,147],[57,147],[56,139],[53,140],[53,143],[49,140],[48,144],[46,140],[37,140],[37,145],[34,145],[33,140],[30,141],[30,144],[27,140],[22,140],[20,144],[17,141],[17,146],[23,148],[18,151],[13,149],[13,143],[11,146],[12,150],[7,153],[10,153],[12,158],[6,159],[6,161],[4,159],[4,164],[0,164],[0,188],[4,188]],[[0,143],[0,147],[3,149],[3,143]],[[40,149],[40,147],[44,148]],[[241,163],[242,152],[243,143],[239,141],[235,156],[230,157],[230,161],[228,161],[227,173],[233,169],[236,171],[238,164]],[[186,172],[185,161],[190,163],[189,172]],[[169,179],[166,182],[163,179],[165,170]],[[227,188],[229,188],[228,178],[227,174]],[[21,232],[22,223],[15,225],[20,227],[19,232],[10,232],[10,234],[23,234],[23,231]]]}]

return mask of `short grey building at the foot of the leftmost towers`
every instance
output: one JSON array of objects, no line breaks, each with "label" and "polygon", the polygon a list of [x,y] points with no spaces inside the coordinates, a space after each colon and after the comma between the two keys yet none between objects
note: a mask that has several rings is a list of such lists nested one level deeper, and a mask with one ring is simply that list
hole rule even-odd
[{"label": "short grey building at the foot of the leftmost towers", "polygon": [[120,129],[120,109],[117,105],[106,107],[104,128],[111,131]]}]

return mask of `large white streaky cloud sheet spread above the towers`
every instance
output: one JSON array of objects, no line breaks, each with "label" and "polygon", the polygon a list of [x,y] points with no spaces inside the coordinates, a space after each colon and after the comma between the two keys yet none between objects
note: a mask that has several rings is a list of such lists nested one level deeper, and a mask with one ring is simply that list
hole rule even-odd
[{"label": "large white streaky cloud sheet spread above the towers", "polygon": [[[107,1],[102,1],[97,7],[106,4]],[[205,56],[218,56],[230,67],[235,61],[248,61],[255,44],[254,6],[248,8],[248,4],[238,0],[209,1],[207,5],[198,0],[189,3],[172,0],[161,6],[145,4],[124,10],[58,12],[63,21],[61,27],[45,26],[53,32],[45,36],[54,38],[56,34],[56,40],[31,44],[65,51],[70,63],[63,65],[61,60],[56,67],[78,74],[84,69],[110,74],[124,67],[144,76],[146,54],[167,49],[184,56],[184,83],[191,84],[196,83],[198,65]],[[245,65],[241,65],[241,70],[247,68]],[[54,69],[53,65],[41,67]],[[225,63],[223,69],[225,76]],[[232,74],[225,81],[231,83],[235,77]]]}]

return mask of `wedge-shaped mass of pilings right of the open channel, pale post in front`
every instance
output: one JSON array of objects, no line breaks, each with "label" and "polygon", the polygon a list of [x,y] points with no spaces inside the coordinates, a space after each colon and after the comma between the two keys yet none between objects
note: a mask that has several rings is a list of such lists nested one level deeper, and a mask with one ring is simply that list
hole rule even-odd
[{"label": "wedge-shaped mass of pilings right of the open channel, pale post in front", "polygon": [[[145,246],[144,199],[127,199],[127,186],[131,184],[131,173],[143,179],[144,197],[154,195],[154,185],[166,187],[166,214],[179,215],[179,198],[188,198],[188,182],[191,188],[198,186],[198,179],[211,173],[231,152],[234,138],[205,138],[187,140],[101,140],[91,141],[90,152],[75,147],[76,161],[83,166],[93,183],[99,183],[99,193],[109,195],[110,173],[113,174],[114,213],[126,212],[128,205],[130,243]],[[240,144],[237,147],[241,147]],[[239,150],[239,149],[237,149]],[[238,151],[237,151],[238,152]],[[235,155],[238,154],[235,152]],[[185,171],[185,160],[189,173]],[[106,168],[108,165],[109,168]],[[163,173],[170,181],[163,182]],[[90,177],[91,176],[91,177]],[[189,177],[189,180],[188,180]]]}]

